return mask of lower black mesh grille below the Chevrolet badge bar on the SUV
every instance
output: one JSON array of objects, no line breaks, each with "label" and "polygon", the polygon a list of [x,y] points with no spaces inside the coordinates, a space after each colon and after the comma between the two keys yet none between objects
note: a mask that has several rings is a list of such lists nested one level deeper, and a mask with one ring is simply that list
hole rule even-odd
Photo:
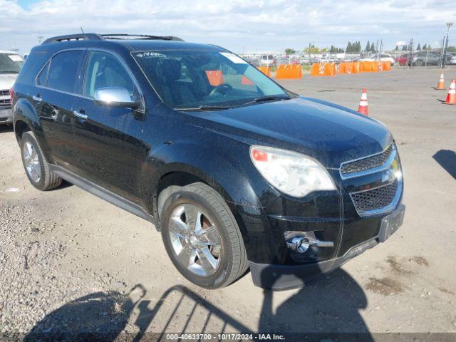
[{"label": "lower black mesh grille below the Chevrolet badge bar on the SUV", "polygon": [[399,182],[395,180],[393,183],[382,187],[361,192],[351,192],[350,197],[353,204],[355,204],[356,211],[361,215],[371,210],[388,207],[398,192],[398,186]]}]

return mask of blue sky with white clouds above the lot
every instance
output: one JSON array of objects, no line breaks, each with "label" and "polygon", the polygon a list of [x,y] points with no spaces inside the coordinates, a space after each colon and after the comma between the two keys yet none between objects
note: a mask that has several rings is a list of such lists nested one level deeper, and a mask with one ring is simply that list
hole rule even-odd
[{"label": "blue sky with white clouds above the lot", "polygon": [[[309,43],[345,48],[348,41],[429,43],[456,21],[452,0],[0,0],[0,49],[26,53],[70,33],[144,33],[212,43],[236,53],[302,51]],[[452,39],[453,38],[453,39]],[[456,45],[456,24],[450,45]]]}]

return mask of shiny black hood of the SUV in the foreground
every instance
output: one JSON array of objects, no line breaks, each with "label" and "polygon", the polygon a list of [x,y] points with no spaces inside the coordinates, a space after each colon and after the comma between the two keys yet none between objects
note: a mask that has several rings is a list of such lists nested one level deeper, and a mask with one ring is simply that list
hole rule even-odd
[{"label": "shiny black hood of the SUV in the foreground", "polygon": [[188,115],[202,119],[204,128],[249,145],[295,150],[334,168],[341,162],[381,152],[392,140],[383,123],[313,98]]}]

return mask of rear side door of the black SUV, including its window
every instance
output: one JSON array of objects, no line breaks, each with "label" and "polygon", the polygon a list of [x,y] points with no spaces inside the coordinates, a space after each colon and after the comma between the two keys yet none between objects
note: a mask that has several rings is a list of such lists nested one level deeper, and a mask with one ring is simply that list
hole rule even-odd
[{"label": "rear side door of the black SUV, including its window", "polygon": [[54,55],[38,73],[32,100],[36,106],[50,162],[74,168],[73,103],[83,50]]}]

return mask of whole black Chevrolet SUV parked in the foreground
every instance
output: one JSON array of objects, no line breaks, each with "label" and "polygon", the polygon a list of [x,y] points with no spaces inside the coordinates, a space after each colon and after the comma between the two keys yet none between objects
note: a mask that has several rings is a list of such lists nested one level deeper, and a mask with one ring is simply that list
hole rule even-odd
[{"label": "whole black Chevrolet SUV parked in the foreground", "polygon": [[291,93],[218,46],[54,37],[11,93],[31,184],[67,180],[153,222],[199,286],[248,268],[264,288],[301,286],[403,222],[382,123]]}]

